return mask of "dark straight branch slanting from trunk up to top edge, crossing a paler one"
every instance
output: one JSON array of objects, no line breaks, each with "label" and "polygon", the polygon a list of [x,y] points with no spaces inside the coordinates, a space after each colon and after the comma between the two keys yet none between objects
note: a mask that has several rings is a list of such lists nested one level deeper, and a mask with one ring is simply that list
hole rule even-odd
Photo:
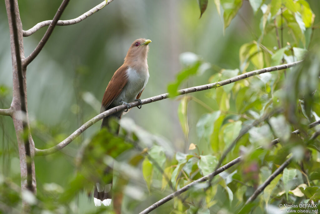
[{"label": "dark straight branch slanting from trunk up to top edge, crossing a paler one", "polygon": [[32,60],[34,60],[36,58],[36,56],[38,56],[38,54],[40,53],[40,51],[44,47],[45,43],[48,41],[49,37],[51,36],[51,33],[52,33],[54,27],[56,26],[58,20],[61,17],[61,14],[63,13],[63,11],[66,8],[66,6],[68,5],[68,3],[69,3],[69,0],[63,0],[62,1],[57,13],[54,15],[53,20],[50,23],[50,26],[48,27],[48,29],[45,32],[45,34],[42,37],[42,39],[40,40],[39,44],[34,49],[34,51],[32,51],[32,53],[27,58],[25,58],[23,60],[23,62],[22,62],[23,67],[27,67],[28,64],[30,64],[32,62]]}]

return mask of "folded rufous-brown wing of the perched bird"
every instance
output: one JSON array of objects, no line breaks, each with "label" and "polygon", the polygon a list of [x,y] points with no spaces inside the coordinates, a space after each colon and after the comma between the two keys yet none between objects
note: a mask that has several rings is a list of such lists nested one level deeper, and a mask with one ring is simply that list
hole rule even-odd
[{"label": "folded rufous-brown wing of the perched bird", "polygon": [[115,74],[113,74],[113,77],[111,78],[107,89],[104,92],[100,113],[104,112],[105,109],[112,104],[112,102],[118,97],[124,86],[127,84],[127,69],[128,67],[123,65],[115,72]]}]

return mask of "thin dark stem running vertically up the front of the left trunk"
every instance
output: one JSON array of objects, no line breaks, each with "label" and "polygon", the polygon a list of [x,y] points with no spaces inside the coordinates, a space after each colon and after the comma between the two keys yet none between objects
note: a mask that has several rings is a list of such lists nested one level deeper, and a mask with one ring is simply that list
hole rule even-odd
[{"label": "thin dark stem running vertically up the front of the left trunk", "polygon": [[[25,86],[24,86],[24,78],[22,72],[22,63],[20,56],[20,44],[18,38],[18,27],[17,27],[17,18],[15,13],[15,3],[13,0],[10,0],[10,13],[11,13],[11,23],[12,23],[12,31],[13,31],[13,40],[14,40],[14,48],[15,48],[15,57],[17,62],[17,71],[18,71],[18,80],[19,80],[19,93],[20,93],[20,106],[21,112],[24,115],[27,115],[27,105],[26,105],[26,94],[25,94]],[[26,150],[26,164],[27,164],[27,188],[31,192],[35,190],[32,187],[32,164],[31,164],[31,151],[30,151],[30,142],[29,142],[29,126],[25,119],[22,119],[22,141],[25,145]]]}]

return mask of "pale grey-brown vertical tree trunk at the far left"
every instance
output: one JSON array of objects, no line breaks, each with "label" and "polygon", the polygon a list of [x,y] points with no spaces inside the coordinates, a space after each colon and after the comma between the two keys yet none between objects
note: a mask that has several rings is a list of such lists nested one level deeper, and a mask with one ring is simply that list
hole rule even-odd
[{"label": "pale grey-brown vertical tree trunk at the far left", "polygon": [[[20,56],[21,60],[25,58],[24,56],[24,49],[23,49],[23,36],[22,36],[22,23],[20,19],[18,1],[14,0],[15,4],[15,17],[17,23],[17,30],[18,30],[18,39],[19,39],[19,48],[20,48]],[[13,29],[12,29],[12,19],[11,19],[11,11],[10,11],[10,1],[5,0],[5,6],[8,15],[9,21],[9,30],[10,30],[10,44],[11,44],[11,57],[12,57],[12,77],[13,77],[13,98],[11,107],[13,109],[12,120],[14,124],[14,128],[17,135],[18,147],[19,147],[19,157],[20,157],[20,170],[21,170],[21,190],[24,191],[27,189],[27,156],[26,156],[26,149],[25,144],[22,138],[23,134],[23,126],[22,120],[24,119],[28,126],[28,111],[26,110],[26,115],[21,114],[21,99],[20,99],[20,85],[18,79],[18,66],[16,60],[16,53],[15,53],[15,44],[14,44],[14,37],[13,37]],[[26,68],[22,68],[22,75],[23,75],[23,82],[24,82],[24,93],[25,93],[25,102],[26,102],[26,109],[27,109],[27,80],[26,80]],[[21,86],[22,87],[22,86]],[[31,164],[32,164],[32,189],[33,193],[36,193],[36,176],[35,176],[35,165],[34,165],[34,153],[35,153],[35,145],[31,135],[29,134],[29,143],[30,143],[30,153],[31,153]],[[30,175],[29,175],[30,176]],[[25,204],[24,204],[25,205]]]}]

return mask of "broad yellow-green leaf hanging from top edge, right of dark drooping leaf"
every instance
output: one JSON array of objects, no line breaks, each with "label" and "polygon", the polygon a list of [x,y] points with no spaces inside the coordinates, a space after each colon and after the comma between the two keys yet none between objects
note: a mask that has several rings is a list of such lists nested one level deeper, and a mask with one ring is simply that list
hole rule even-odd
[{"label": "broad yellow-green leaf hanging from top edge, right of dark drooping leaf", "polygon": [[224,9],[223,30],[226,30],[226,28],[230,25],[230,22],[232,21],[232,19],[235,18],[236,14],[241,8],[243,1],[242,0],[221,0],[221,3],[222,3],[222,8]]}]

